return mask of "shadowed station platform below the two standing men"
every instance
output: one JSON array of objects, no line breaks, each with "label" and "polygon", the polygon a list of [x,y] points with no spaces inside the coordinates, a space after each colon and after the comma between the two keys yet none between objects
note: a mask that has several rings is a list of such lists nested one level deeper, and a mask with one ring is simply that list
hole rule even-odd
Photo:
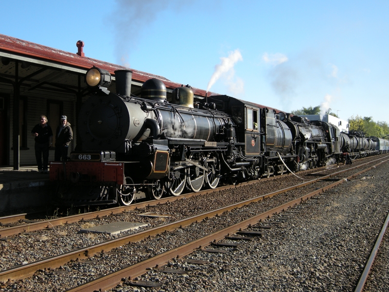
[{"label": "shadowed station platform below the two standing men", "polygon": [[0,212],[46,205],[50,186],[49,174],[39,173],[36,165],[0,167]]}]

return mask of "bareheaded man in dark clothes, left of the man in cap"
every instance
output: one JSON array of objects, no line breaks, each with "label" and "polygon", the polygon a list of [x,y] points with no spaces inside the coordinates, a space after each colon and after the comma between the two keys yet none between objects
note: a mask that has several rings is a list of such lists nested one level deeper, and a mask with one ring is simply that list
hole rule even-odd
[{"label": "bareheaded man in dark clothes, left of the man in cap", "polygon": [[[49,149],[53,146],[53,131],[47,124],[47,117],[40,116],[40,123],[31,131],[35,137],[35,158],[40,173],[47,173],[49,164]],[[43,156],[43,164],[42,164]]]}]

